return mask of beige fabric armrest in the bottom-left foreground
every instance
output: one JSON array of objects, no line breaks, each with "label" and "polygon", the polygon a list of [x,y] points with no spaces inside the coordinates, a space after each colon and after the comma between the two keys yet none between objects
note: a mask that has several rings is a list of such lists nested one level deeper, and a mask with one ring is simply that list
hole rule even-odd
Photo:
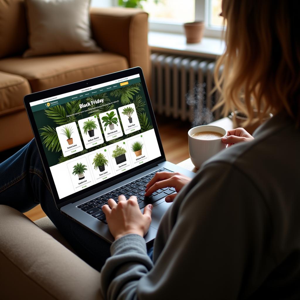
[{"label": "beige fabric armrest in the bottom-left foreground", "polygon": [[0,205],[1,299],[102,299],[101,274],[26,216]]}]

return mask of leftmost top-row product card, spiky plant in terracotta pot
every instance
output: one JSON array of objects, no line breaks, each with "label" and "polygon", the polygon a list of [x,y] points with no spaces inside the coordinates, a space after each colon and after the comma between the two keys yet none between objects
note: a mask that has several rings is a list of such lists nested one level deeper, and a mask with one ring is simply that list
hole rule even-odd
[{"label": "leftmost top-row product card, spiky plant in terracotta pot", "polygon": [[56,132],[64,157],[83,150],[75,122],[56,127]]}]

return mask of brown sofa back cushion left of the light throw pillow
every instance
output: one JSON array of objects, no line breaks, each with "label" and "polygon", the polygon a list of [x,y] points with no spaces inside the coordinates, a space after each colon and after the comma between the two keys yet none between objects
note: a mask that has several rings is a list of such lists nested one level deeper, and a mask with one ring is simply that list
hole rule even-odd
[{"label": "brown sofa back cushion left of the light throw pillow", "polygon": [[23,0],[0,1],[0,58],[21,54],[28,48]]}]

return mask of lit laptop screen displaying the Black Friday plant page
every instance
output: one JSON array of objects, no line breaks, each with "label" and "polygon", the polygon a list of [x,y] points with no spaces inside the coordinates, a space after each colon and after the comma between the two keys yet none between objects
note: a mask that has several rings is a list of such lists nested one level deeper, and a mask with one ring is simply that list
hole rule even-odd
[{"label": "lit laptop screen displaying the Black Friday plant page", "polygon": [[33,101],[30,108],[59,199],[161,156],[140,74]]}]

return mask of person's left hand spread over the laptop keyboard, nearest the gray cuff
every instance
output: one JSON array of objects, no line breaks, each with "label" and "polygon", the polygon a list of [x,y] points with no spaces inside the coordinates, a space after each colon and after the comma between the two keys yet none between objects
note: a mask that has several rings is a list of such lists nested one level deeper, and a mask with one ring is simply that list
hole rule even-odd
[{"label": "person's left hand spread over the laptop keyboard, nearest the gray cuff", "polygon": [[114,199],[109,199],[108,205],[103,205],[102,210],[110,232],[117,240],[129,233],[143,237],[151,223],[152,208],[152,204],[147,205],[142,214],[136,196],[126,200],[125,196],[121,195],[118,197],[118,204]]}]

